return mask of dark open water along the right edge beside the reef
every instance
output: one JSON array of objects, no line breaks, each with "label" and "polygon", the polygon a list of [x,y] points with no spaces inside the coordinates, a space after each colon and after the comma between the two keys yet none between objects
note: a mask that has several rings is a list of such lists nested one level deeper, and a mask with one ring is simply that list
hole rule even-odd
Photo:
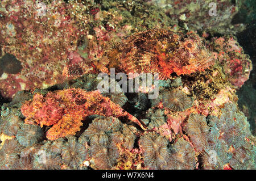
[{"label": "dark open water along the right edge beside the reef", "polygon": [[[251,125],[251,131],[256,134],[256,1],[246,0],[240,12],[232,20],[234,23],[245,23],[246,30],[236,35],[238,42],[253,63],[250,78],[237,91],[238,106],[245,113]],[[247,109],[247,110],[246,110]]]}]

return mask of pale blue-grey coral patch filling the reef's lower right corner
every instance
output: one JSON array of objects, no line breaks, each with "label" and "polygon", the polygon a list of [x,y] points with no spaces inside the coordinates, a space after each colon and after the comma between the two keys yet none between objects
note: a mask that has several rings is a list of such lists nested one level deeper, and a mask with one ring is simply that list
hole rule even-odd
[{"label": "pale blue-grey coral patch filling the reef's lower right corner", "polygon": [[[233,103],[225,104],[220,118],[208,117],[208,143],[203,153],[203,169],[253,169],[255,146],[249,140],[251,133],[246,117]],[[206,131],[207,129],[205,129]],[[212,161],[212,159],[214,159]]]}]

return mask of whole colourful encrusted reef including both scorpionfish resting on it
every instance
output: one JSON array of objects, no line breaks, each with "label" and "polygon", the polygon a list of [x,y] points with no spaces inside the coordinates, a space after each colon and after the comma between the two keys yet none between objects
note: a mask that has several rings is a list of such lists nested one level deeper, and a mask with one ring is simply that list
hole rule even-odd
[{"label": "whole colourful encrusted reef including both scorpionfish resting on it", "polygon": [[[255,169],[246,3],[221,2],[2,1],[0,169]],[[101,93],[111,68],[159,73],[158,97]]]}]

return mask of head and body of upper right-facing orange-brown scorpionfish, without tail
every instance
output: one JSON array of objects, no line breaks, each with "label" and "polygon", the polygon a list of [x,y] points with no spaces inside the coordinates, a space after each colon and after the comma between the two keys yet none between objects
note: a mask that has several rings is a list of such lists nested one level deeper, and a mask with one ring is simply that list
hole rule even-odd
[{"label": "head and body of upper right-facing orange-brown scorpionfish, without tail", "polygon": [[191,74],[214,63],[204,41],[196,34],[164,29],[147,30],[127,37],[107,53],[109,68],[125,73],[159,73],[167,79],[172,73]]}]

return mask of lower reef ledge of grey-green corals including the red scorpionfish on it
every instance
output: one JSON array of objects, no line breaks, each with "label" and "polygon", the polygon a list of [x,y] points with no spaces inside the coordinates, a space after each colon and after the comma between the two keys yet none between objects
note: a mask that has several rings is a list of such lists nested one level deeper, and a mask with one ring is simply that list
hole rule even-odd
[{"label": "lower reef ledge of grey-green corals including the red scorpionfish on it", "polygon": [[100,94],[94,74],[18,92],[2,106],[1,169],[255,169],[255,138],[218,70],[159,82],[157,99]]}]

